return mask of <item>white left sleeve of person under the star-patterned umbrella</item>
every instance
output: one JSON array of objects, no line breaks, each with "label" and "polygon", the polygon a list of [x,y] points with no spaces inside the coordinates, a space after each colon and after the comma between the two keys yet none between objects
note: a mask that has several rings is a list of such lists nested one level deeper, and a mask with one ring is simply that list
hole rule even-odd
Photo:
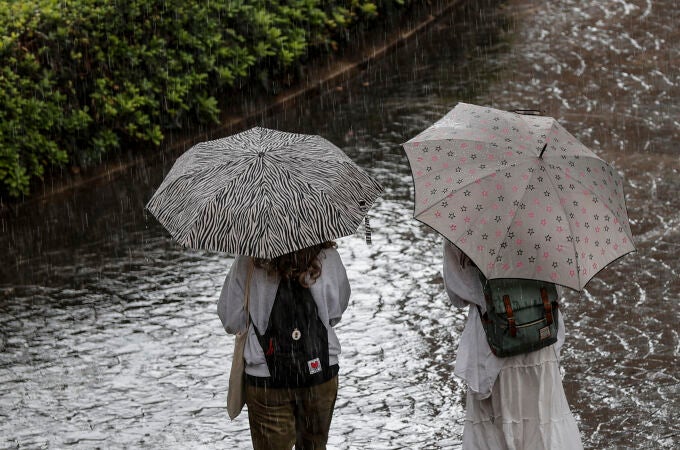
[{"label": "white left sleeve of person under the star-patterned umbrella", "polygon": [[466,267],[461,265],[463,253],[451,244],[444,241],[444,264],[443,278],[446,293],[458,308],[464,308],[470,303],[475,303],[484,308],[484,294],[482,283],[479,280],[479,269],[473,264]]}]

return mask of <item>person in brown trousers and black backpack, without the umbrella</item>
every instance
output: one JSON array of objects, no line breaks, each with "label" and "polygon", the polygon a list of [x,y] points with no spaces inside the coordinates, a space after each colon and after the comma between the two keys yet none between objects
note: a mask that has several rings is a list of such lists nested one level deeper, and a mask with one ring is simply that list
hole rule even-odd
[{"label": "person in brown trousers and black backpack, without the umbrella", "polygon": [[236,334],[249,322],[246,405],[255,450],[326,448],[338,392],[333,327],[350,297],[335,247],[326,242],[273,259],[238,256],[224,282],[218,314],[225,330]]}]

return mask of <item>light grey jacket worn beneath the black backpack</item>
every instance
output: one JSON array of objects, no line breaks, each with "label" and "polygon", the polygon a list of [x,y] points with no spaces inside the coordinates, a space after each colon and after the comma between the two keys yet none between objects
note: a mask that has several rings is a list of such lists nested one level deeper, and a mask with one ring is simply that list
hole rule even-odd
[{"label": "light grey jacket worn beneath the black backpack", "polygon": [[[334,248],[322,250],[319,254],[321,276],[310,286],[319,318],[328,330],[328,353],[331,365],[338,363],[340,342],[333,327],[340,321],[349,304],[350,286],[347,272],[340,255]],[[224,280],[222,293],[217,303],[217,314],[227,333],[236,334],[245,329],[246,314],[243,309],[245,284],[248,276],[250,257],[237,256]],[[261,332],[267,329],[269,315],[274,306],[280,277],[269,275],[264,269],[255,267],[250,283],[250,317]],[[269,369],[264,351],[250,324],[244,358],[246,373],[257,377],[268,377]]]}]

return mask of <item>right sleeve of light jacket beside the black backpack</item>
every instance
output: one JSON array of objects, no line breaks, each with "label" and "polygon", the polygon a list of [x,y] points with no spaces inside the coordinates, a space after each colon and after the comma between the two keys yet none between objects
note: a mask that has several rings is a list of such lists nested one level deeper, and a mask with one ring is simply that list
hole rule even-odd
[{"label": "right sleeve of light jacket beside the black backpack", "polygon": [[[349,297],[351,288],[349,280],[347,279],[347,271],[342,264],[340,254],[335,249],[325,251],[325,258],[321,261],[322,281],[321,292],[328,305],[328,322],[330,326],[334,327],[340,322],[342,314],[349,305]],[[321,280],[323,278],[323,280]],[[316,284],[316,283],[315,283]],[[314,290],[314,285],[312,285]]]}]

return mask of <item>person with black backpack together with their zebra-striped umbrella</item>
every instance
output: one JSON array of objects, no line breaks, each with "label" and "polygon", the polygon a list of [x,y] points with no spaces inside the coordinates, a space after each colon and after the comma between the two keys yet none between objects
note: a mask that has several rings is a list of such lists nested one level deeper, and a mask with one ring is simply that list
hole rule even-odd
[{"label": "person with black backpack together with their zebra-striped umbrella", "polygon": [[326,448],[350,296],[333,241],[362,223],[369,241],[382,191],[326,139],[255,127],[187,150],[146,206],[183,246],[236,255],[218,301],[237,334],[227,411],[245,390],[255,450]]}]

